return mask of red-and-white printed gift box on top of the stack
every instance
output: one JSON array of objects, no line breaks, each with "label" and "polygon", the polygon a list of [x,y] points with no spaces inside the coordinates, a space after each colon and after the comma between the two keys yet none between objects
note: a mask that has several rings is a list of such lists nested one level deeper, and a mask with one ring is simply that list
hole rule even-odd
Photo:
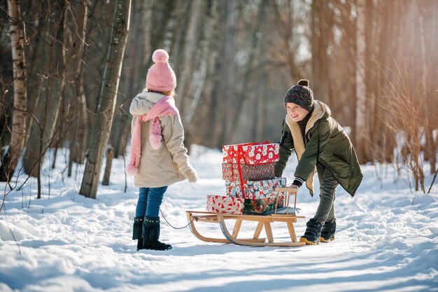
[{"label": "red-and-white printed gift box on top of the stack", "polygon": [[280,157],[280,146],[269,143],[247,143],[222,146],[224,163],[244,163],[258,165],[276,162]]}]

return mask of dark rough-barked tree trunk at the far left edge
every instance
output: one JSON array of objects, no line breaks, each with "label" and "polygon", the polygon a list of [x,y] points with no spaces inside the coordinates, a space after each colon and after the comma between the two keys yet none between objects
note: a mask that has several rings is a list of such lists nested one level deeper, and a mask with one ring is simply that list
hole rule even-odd
[{"label": "dark rough-barked tree trunk at the far left edge", "polygon": [[10,146],[5,157],[1,159],[0,181],[9,181],[10,177],[13,176],[27,139],[27,79],[26,57],[24,55],[24,22],[21,19],[18,2],[17,0],[8,0],[14,76],[14,109]]}]

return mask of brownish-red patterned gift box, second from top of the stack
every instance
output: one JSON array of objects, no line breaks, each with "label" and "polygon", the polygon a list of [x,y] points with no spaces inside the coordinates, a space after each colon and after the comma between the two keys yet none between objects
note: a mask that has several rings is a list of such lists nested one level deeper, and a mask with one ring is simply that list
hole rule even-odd
[{"label": "brownish-red patterned gift box, second from top of the stack", "polygon": [[[256,181],[260,179],[274,179],[275,162],[262,165],[241,164],[243,181]],[[222,179],[225,181],[239,181],[239,165],[237,163],[222,163]]]}]

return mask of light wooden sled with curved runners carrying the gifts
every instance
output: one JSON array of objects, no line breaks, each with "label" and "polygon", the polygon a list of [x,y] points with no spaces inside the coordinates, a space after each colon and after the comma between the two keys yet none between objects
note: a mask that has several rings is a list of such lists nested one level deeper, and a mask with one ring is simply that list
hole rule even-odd
[{"label": "light wooden sled with curved runners carrying the gifts", "polygon": [[[276,188],[276,192],[283,192],[286,194],[285,206],[289,206],[290,195],[295,195],[294,209],[297,204],[297,189],[296,188]],[[277,202],[278,203],[278,202]],[[288,209],[287,209],[288,210]],[[218,242],[218,243],[233,243],[239,245],[248,246],[302,246],[305,245],[304,242],[297,242],[297,236],[295,235],[295,228],[293,223],[297,222],[297,218],[304,218],[304,216],[297,216],[295,213],[276,214],[277,206],[274,214],[263,216],[263,215],[235,215],[235,214],[222,214],[215,213],[211,211],[185,211],[187,214],[188,222],[190,223],[190,230],[193,235],[204,242]],[[235,220],[234,228],[230,230],[227,228],[226,221]],[[239,238],[239,231],[243,221],[256,221],[257,227],[255,228],[253,238],[241,239]],[[220,225],[220,230],[225,238],[214,238],[205,237],[201,235],[196,226],[195,222],[206,222],[206,223],[218,223]],[[271,223],[273,222],[284,222],[288,226],[288,231],[290,235],[290,241],[287,242],[276,242],[274,241],[274,236],[272,235]],[[266,232],[268,241],[265,238],[260,238],[260,233]]]}]

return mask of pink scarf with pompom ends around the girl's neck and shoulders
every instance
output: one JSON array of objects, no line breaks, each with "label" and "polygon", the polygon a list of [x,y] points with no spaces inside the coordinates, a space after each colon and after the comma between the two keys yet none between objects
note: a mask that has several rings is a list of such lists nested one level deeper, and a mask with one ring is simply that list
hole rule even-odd
[{"label": "pink scarf with pompom ends around the girl's neck and shoulders", "polygon": [[131,153],[129,153],[129,165],[126,167],[126,172],[129,175],[136,175],[139,172],[139,164],[141,157],[141,122],[152,120],[150,124],[150,145],[154,149],[161,146],[161,124],[158,117],[173,116],[178,113],[175,106],[175,99],[171,96],[165,96],[160,99],[145,116],[139,116],[134,125],[134,132],[131,138]]}]

